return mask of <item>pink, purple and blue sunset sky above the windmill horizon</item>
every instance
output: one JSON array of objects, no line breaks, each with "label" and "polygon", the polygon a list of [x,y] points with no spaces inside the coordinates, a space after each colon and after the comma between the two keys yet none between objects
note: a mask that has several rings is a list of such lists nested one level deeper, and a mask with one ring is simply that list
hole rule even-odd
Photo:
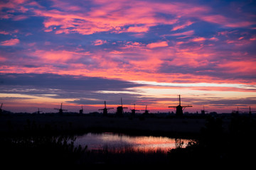
[{"label": "pink, purple and blue sunset sky above the windmill horizon", "polygon": [[2,0],[0,18],[6,111],[256,111],[256,1]]}]

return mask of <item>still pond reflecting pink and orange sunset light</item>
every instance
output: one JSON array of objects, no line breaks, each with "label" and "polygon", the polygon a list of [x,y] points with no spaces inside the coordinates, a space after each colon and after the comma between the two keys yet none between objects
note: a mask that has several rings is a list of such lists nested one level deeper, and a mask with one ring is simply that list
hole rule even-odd
[{"label": "still pond reflecting pink and orange sunset light", "polygon": [[129,149],[142,152],[168,152],[176,147],[186,147],[188,142],[191,142],[191,140],[154,136],[129,136],[105,132],[77,136],[74,144],[87,145],[87,149],[95,151],[107,149],[111,152],[124,152]]}]

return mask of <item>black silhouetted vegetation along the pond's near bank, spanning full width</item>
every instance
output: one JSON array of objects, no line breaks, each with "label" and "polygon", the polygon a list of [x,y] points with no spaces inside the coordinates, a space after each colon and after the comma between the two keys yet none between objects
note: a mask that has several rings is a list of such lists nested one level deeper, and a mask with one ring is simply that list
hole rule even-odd
[{"label": "black silhouetted vegetation along the pond's near bank, spanning full width", "polygon": [[[0,152],[3,164],[180,164],[182,162],[246,162],[254,161],[256,151],[255,118],[233,115],[228,133],[223,131],[223,118],[208,116],[196,142],[186,148],[177,145],[167,154],[143,152],[129,147],[119,152],[91,151],[87,146],[74,146],[75,137],[57,133],[45,126],[38,129],[27,122],[26,130],[3,133]],[[34,128],[32,128],[34,126]]]}]

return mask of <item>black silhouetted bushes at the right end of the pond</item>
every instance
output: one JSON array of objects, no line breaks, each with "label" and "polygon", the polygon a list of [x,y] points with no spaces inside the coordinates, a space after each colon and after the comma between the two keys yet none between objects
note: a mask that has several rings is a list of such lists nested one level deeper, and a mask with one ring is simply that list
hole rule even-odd
[{"label": "black silhouetted bushes at the right end of the pond", "polygon": [[169,156],[174,162],[254,164],[255,132],[256,121],[250,117],[233,115],[228,133],[223,132],[222,119],[209,117],[198,142],[172,149]]}]

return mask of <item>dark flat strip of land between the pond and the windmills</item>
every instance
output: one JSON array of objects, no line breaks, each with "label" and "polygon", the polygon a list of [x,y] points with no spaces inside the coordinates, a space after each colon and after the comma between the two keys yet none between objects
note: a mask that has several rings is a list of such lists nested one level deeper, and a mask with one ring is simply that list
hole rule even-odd
[{"label": "dark flat strip of land between the pond and the windmills", "polygon": [[[201,135],[206,118],[105,117],[100,115],[1,115],[1,133],[117,132],[128,135],[164,135],[195,138]],[[225,131],[229,121],[223,122]]]}]

